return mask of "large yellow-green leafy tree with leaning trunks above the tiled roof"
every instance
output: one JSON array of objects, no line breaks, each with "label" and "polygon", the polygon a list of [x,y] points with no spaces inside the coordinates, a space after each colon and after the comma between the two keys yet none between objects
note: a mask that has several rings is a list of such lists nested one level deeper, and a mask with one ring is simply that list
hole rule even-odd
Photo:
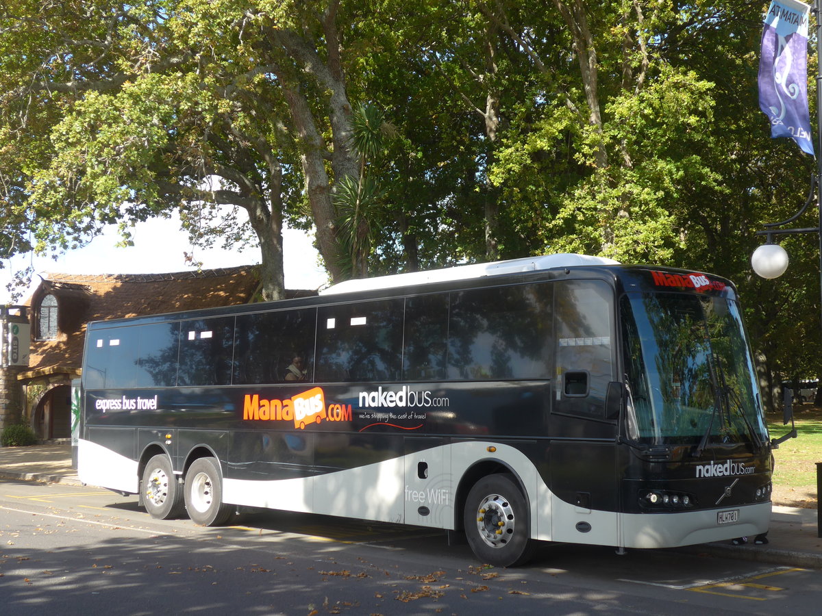
[{"label": "large yellow-green leafy tree with leaning trunks above the tiled roof", "polygon": [[172,208],[196,240],[236,242],[246,229],[204,224],[216,206],[243,209],[270,299],[283,297],[284,216],[307,206],[340,278],[332,193],[359,172],[342,52],[367,53],[367,41],[344,41],[337,24],[357,18],[339,0],[7,7],[0,117],[16,150],[5,175],[20,188],[3,206],[39,249]]}]

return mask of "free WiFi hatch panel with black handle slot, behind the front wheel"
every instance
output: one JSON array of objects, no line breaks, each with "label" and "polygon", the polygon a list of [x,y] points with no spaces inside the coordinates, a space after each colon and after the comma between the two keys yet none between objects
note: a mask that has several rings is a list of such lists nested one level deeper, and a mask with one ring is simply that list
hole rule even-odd
[{"label": "free WiFi hatch panel with black handle slot, behind the front wheel", "polygon": [[446,439],[405,437],[405,523],[450,528],[454,489]]}]

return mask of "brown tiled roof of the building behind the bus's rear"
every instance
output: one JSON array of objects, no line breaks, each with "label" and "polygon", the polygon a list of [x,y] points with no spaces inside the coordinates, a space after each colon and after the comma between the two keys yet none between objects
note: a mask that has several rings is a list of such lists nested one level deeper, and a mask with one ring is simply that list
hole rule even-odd
[{"label": "brown tiled roof of the building behind the bus's rear", "polygon": [[[89,321],[245,304],[253,300],[259,286],[252,265],[172,274],[40,276],[42,283],[25,305],[38,306],[48,293],[57,297],[60,333],[56,340],[32,341],[29,376],[56,368],[61,372],[79,369]],[[34,333],[36,319],[31,320]]]}]

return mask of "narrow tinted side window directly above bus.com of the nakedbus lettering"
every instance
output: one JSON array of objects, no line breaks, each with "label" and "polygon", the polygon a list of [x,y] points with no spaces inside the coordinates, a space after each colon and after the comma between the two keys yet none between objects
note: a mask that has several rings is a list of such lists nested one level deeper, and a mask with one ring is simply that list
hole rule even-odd
[{"label": "narrow tinted side window directly above bus.com of the nakedbus lettering", "polygon": [[448,294],[405,301],[404,380],[446,378]]}]

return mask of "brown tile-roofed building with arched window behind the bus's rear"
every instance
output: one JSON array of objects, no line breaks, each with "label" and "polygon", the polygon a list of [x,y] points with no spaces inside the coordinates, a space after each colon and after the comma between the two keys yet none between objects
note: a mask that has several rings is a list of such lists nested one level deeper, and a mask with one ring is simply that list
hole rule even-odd
[{"label": "brown tile-roofed building with arched window behind the bus's rear", "polygon": [[[44,441],[71,435],[72,379],[81,375],[85,324],[255,301],[254,266],[174,274],[41,274],[25,306],[0,308],[4,332],[30,324],[28,365],[0,369],[0,429],[24,421]],[[288,292],[289,297],[314,294]],[[3,357],[7,357],[7,335]],[[16,343],[15,343],[16,344]]]}]

